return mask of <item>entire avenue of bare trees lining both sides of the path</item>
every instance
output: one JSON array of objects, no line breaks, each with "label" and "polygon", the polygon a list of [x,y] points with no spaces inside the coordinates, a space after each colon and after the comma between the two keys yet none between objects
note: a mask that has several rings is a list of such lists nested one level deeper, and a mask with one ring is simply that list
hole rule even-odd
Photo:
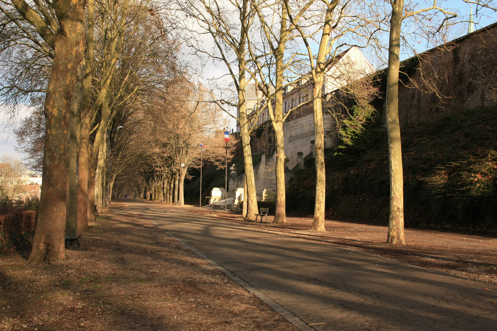
[{"label": "entire avenue of bare trees lining both sides of the path", "polygon": [[[495,10],[492,0],[485,1],[466,2]],[[35,130],[17,135],[38,157],[33,165],[43,169],[28,262],[64,259],[64,231],[86,227],[94,206],[100,211],[108,205],[116,179],[129,169],[142,174],[153,199],[171,201],[177,191],[183,203],[182,183],[198,162],[199,143],[212,147],[207,159],[221,160],[226,146],[216,132],[228,125],[220,110],[240,125],[248,218],[257,212],[250,132],[259,113],[268,110],[276,138],[275,222],[286,222],[283,123],[290,112],[284,113],[283,93],[296,80],[313,86],[304,101],[313,105],[316,134],[313,229],[325,231],[322,86],[327,67],[351,46],[388,54],[387,241],[404,243],[397,95],[401,44],[409,46],[413,35],[428,44],[444,40],[455,12],[436,2],[403,0],[5,0],[0,11],[0,96],[7,105],[2,112],[15,118],[19,110],[35,109],[24,122]],[[182,42],[200,58],[222,64],[228,79],[209,79],[204,87],[185,78],[178,19]],[[408,33],[403,22],[410,22]],[[253,111],[245,98],[251,81],[263,94]],[[139,180],[131,182],[140,186]]]}]

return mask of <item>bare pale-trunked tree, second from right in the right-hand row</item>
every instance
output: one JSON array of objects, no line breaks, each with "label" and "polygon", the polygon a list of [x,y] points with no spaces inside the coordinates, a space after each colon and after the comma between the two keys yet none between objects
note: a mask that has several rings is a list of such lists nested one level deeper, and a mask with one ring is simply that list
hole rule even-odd
[{"label": "bare pale-trunked tree, second from right in the right-hand row", "polygon": [[[362,8],[362,2],[358,1],[344,1],[341,4],[339,0],[317,1],[312,8],[313,10],[310,10],[312,13],[304,14],[304,16],[311,15],[301,20],[304,24],[293,18],[289,1],[284,0],[284,3],[289,12],[290,20],[299,31],[307,49],[305,63],[308,64],[310,70],[306,70],[303,77],[304,79],[310,78],[313,86],[314,156],[316,164],[316,200],[312,230],[326,231],[324,223],[326,173],[322,106],[323,85],[325,80],[329,80],[331,86],[338,89],[342,86],[351,87],[354,80],[372,71],[373,68],[366,61],[361,62],[357,61],[357,59],[348,59],[346,57],[347,52],[339,52],[339,50],[344,46],[357,46],[350,43],[354,39],[355,43],[362,41],[362,47],[367,46],[372,35],[367,27],[368,25],[373,25],[374,28],[377,24],[374,24],[374,20],[368,17],[367,12]],[[319,6],[319,4],[322,6]],[[357,15],[357,12],[361,11],[362,14]],[[315,20],[314,23],[312,23],[313,19]],[[321,39],[316,40],[315,36],[319,36],[319,31],[321,31]],[[331,37],[332,33],[333,36]],[[318,53],[314,55],[313,47],[318,45]],[[335,65],[332,72],[330,72],[329,68],[331,64]],[[333,115],[335,116],[335,120],[338,120],[339,116],[336,116],[337,114]],[[338,123],[337,121],[335,122]]]}]

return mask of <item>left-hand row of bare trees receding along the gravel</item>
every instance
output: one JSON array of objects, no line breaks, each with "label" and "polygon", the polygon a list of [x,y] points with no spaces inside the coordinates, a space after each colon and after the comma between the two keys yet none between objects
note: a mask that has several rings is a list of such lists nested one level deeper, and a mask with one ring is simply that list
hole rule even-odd
[{"label": "left-hand row of bare trees receding along the gravel", "polygon": [[181,74],[174,21],[163,6],[149,0],[0,4],[4,112],[15,117],[34,109],[16,135],[29,146],[32,165],[43,169],[28,262],[65,258],[65,230],[86,227],[94,206],[110,202],[116,176],[140,147],[134,137],[150,100]]}]

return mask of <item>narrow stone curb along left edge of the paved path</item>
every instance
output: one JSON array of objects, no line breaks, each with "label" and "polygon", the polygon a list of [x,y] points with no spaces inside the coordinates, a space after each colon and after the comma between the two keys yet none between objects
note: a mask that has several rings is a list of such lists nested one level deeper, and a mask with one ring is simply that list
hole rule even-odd
[{"label": "narrow stone curb along left edge of the paved path", "polygon": [[[147,219],[149,219],[149,218],[147,218]],[[255,287],[250,286],[250,284],[248,284],[245,280],[243,280],[242,278],[236,276],[234,273],[232,273],[229,270],[225,269],[221,265],[218,265],[217,262],[211,260],[208,256],[206,256],[202,252],[197,251],[196,249],[194,249],[193,247],[191,247],[190,245],[188,245],[187,243],[185,243],[181,239],[175,237],[172,233],[170,233],[169,231],[167,231],[165,228],[163,228],[157,222],[155,222],[155,221],[153,221],[151,219],[149,219],[149,221],[151,221],[152,223],[154,223],[155,225],[157,225],[158,228],[164,230],[164,232],[166,232],[169,236],[171,236],[172,238],[174,238],[174,240],[176,240],[177,242],[181,243],[181,245],[183,245],[184,247],[186,247],[187,249],[189,249],[190,251],[192,251],[193,253],[197,254],[198,256],[200,256],[201,258],[203,258],[205,261],[207,261],[208,263],[210,263],[211,265],[213,265],[216,269],[218,269],[219,271],[224,272],[224,274],[226,274],[228,277],[230,277],[231,279],[233,279],[234,281],[236,281],[240,286],[244,287],[248,292],[250,292],[253,295],[255,295],[257,298],[259,298],[262,302],[264,302],[266,305],[268,305],[276,313],[278,313],[281,316],[283,316],[288,322],[290,322],[292,325],[294,325],[297,329],[303,330],[303,331],[304,330],[305,331],[311,331],[311,330],[316,331],[315,329],[313,329],[312,327],[310,327],[309,325],[307,325],[305,322],[301,321],[297,316],[293,315],[288,310],[286,310],[285,308],[281,307],[276,301],[274,301],[273,299],[271,299],[270,297],[268,297],[264,293],[260,292]]]}]

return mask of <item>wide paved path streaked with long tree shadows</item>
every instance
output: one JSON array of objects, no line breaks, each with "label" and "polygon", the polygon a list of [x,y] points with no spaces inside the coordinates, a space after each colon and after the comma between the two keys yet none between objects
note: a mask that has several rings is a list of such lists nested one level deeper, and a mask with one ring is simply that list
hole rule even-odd
[{"label": "wide paved path streaked with long tree shadows", "polygon": [[127,201],[318,331],[497,330],[496,286]]}]

